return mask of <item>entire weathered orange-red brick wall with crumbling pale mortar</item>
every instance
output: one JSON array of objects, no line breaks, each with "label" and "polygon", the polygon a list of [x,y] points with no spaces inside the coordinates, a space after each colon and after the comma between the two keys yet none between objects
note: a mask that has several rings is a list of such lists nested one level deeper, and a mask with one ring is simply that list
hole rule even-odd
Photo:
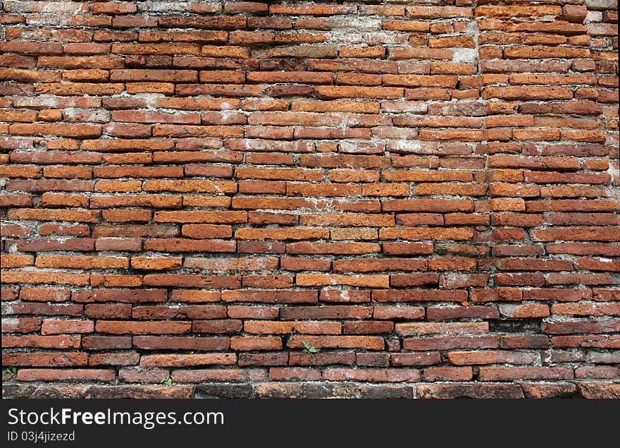
[{"label": "entire weathered orange-red brick wall with crumbling pale mortar", "polygon": [[620,396],[615,0],[1,3],[5,396]]}]

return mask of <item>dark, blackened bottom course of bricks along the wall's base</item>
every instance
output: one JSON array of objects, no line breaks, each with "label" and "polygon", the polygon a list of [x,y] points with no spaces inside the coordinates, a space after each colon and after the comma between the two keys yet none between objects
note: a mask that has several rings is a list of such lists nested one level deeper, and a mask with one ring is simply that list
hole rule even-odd
[{"label": "dark, blackened bottom course of bricks along the wall's base", "polygon": [[6,384],[5,398],[37,399],[619,399],[620,385],[605,382],[461,382],[379,385],[352,382],[213,382],[186,386]]}]

